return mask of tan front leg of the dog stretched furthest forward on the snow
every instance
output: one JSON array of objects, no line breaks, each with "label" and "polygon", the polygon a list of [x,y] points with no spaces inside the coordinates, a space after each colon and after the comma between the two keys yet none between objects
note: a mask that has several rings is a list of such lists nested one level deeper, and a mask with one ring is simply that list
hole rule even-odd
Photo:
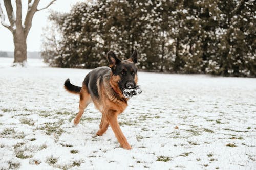
[{"label": "tan front leg of the dog stretched furthest forward on the snow", "polygon": [[124,149],[130,150],[130,149],[132,149],[132,147],[127,142],[127,139],[125,138],[125,136],[123,135],[123,133],[120,129],[120,126],[117,122],[117,115],[118,115],[118,113],[116,111],[109,110],[106,116],[108,118],[108,122],[110,123],[112,130],[115,133],[117,140],[121,144],[121,147]]}]

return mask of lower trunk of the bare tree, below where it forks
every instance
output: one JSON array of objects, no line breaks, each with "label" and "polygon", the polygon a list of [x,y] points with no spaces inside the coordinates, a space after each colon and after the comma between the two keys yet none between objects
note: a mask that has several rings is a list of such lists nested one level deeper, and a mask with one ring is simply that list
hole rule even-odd
[{"label": "lower trunk of the bare tree, below where it forks", "polygon": [[27,42],[24,33],[13,34],[14,42],[14,63],[21,63],[27,61]]}]

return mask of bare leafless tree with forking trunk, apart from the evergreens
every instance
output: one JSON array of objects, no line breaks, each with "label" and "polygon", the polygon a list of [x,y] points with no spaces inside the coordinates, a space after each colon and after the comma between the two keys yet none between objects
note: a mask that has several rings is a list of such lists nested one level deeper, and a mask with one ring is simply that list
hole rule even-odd
[{"label": "bare leafless tree with forking trunk, apart from the evergreens", "polygon": [[22,1],[16,0],[16,15],[13,11],[11,0],[4,0],[4,6],[10,25],[5,22],[5,15],[0,3],[0,20],[4,27],[11,31],[14,42],[14,63],[24,65],[27,61],[27,37],[32,26],[32,19],[36,12],[48,8],[53,2],[51,1],[46,7],[37,9],[40,0],[28,0],[28,10],[24,22],[22,21]]}]

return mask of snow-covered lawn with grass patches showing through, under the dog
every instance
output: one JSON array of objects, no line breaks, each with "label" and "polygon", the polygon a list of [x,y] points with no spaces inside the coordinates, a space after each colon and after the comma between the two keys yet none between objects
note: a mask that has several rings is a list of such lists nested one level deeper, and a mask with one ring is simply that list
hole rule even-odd
[{"label": "snow-covered lawn with grass patches showing through, under the dog", "polygon": [[256,169],[256,79],[139,72],[142,94],[119,116],[127,141],[111,128],[96,136],[93,104],[72,126],[87,69],[27,68],[0,58],[0,169]]}]

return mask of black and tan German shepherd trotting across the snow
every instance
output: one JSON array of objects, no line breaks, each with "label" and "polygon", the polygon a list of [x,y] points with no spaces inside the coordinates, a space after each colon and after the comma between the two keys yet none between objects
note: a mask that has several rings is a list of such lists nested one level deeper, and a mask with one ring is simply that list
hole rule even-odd
[{"label": "black and tan German shepherd trotting across the snow", "polygon": [[109,67],[93,69],[84,79],[82,87],[72,85],[69,79],[64,87],[71,93],[80,94],[79,112],[74,125],[80,122],[84,109],[93,102],[102,113],[96,135],[101,136],[110,125],[121,147],[130,150],[132,148],[119,127],[117,116],[125,110],[129,100],[125,98],[123,90],[137,85],[137,50],[127,60],[120,61],[113,51],[108,52],[107,58]]}]

